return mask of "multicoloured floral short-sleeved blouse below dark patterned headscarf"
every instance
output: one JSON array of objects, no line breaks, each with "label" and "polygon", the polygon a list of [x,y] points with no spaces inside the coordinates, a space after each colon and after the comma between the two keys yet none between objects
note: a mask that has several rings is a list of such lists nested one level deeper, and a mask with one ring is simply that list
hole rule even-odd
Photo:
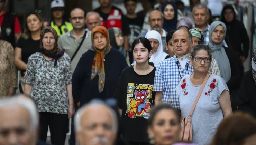
[{"label": "multicoloured floral short-sleeved blouse below dark patterned headscarf", "polygon": [[48,61],[40,52],[28,58],[24,83],[33,85],[30,96],[35,99],[39,112],[68,114],[66,85],[71,84],[71,78],[71,61],[66,53],[56,66],[54,59]]}]

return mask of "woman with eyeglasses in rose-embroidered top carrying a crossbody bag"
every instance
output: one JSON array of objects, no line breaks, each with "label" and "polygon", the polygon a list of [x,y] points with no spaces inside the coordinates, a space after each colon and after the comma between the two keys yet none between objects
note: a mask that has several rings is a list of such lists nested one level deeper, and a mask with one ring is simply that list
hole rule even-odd
[{"label": "woman with eyeglasses in rose-embroidered top carrying a crossbody bag", "polygon": [[[212,51],[207,45],[199,44],[190,54],[194,72],[186,75],[176,87],[179,96],[181,118],[188,116],[204,78],[211,66]],[[192,143],[208,144],[223,118],[232,114],[229,89],[225,80],[211,74],[192,114]]]}]

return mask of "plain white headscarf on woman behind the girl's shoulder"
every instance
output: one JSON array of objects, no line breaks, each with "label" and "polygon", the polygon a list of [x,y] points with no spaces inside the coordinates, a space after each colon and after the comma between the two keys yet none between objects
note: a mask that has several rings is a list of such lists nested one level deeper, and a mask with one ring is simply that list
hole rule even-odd
[{"label": "plain white headscarf on woman behind the girl's shoulder", "polygon": [[145,38],[147,39],[156,39],[159,42],[159,46],[156,52],[153,52],[151,58],[149,59],[150,62],[154,63],[154,66],[156,67],[157,64],[161,61],[163,61],[166,56],[168,55],[163,51],[163,45],[162,45],[162,38],[159,32],[155,30],[148,31]]}]

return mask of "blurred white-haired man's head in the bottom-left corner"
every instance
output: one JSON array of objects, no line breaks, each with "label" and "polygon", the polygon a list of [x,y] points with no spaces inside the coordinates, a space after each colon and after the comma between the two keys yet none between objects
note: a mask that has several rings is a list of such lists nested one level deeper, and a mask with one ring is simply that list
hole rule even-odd
[{"label": "blurred white-haired man's head in the bottom-left corner", "polygon": [[34,101],[26,96],[0,100],[0,145],[43,145],[37,142],[39,115]]}]

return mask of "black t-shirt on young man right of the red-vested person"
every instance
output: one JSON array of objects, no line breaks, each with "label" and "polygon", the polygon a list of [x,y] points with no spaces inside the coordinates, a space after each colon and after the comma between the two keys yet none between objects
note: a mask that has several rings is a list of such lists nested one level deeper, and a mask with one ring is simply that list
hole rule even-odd
[{"label": "black t-shirt on young man right of the red-vested person", "polygon": [[125,19],[130,28],[130,34],[128,35],[128,38],[129,38],[129,50],[131,51],[131,46],[132,46],[133,41],[138,37],[138,35],[141,32],[144,19],[143,19],[143,17],[141,17],[139,15],[136,18],[126,17]]}]

